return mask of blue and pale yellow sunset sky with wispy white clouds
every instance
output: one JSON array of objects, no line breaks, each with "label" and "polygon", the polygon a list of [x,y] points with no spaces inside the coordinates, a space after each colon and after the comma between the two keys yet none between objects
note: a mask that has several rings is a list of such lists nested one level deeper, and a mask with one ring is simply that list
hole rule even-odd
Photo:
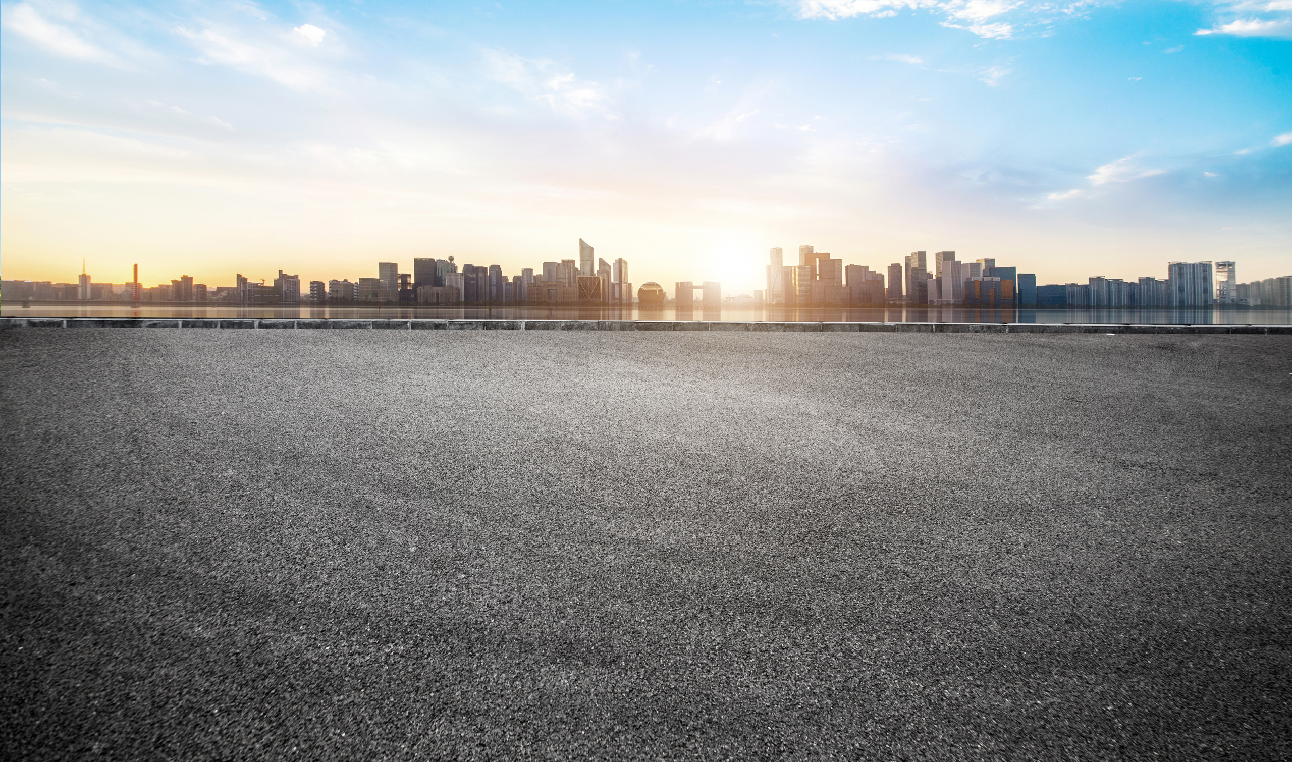
[{"label": "blue and pale yellow sunset sky with wispy white clouds", "polygon": [[1292,0],[8,3],[4,278],[1292,273]]}]

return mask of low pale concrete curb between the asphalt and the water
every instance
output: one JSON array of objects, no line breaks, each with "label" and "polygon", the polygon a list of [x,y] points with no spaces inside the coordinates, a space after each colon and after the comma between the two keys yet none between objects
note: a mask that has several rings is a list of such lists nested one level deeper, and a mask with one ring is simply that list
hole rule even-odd
[{"label": "low pale concrete curb between the asphalt and the water", "polygon": [[1089,323],[762,323],[704,320],[350,320],[322,318],[0,318],[4,328],[364,328],[394,331],[801,331],[862,333],[1292,335],[1292,325],[1099,325]]}]

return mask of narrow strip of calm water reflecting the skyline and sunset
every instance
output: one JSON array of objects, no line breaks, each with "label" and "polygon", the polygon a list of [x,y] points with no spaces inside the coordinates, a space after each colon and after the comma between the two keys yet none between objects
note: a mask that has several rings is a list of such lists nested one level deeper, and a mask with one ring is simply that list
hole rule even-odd
[{"label": "narrow strip of calm water reflecting the skyline and sunset", "polygon": [[707,322],[826,322],[826,323],[1096,323],[1096,324],[1292,324],[1288,309],[1156,307],[1156,309],[972,309],[930,307],[828,307],[828,306],[724,306],[693,309],[677,305],[633,307],[579,306],[463,306],[463,307],[351,307],[270,305],[130,305],[109,304],[5,304],[5,316],[59,318],[333,318],[333,319],[448,319],[448,320],[707,320]]}]

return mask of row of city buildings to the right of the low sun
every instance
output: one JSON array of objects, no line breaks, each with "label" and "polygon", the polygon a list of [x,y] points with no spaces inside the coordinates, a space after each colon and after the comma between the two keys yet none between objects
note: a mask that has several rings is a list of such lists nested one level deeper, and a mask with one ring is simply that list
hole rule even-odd
[{"label": "row of city buildings to the right of the low sun", "polygon": [[[810,245],[798,247],[798,263],[786,265],[783,249],[771,249],[770,305],[964,305],[979,307],[1185,307],[1214,304],[1292,306],[1292,276],[1236,283],[1234,262],[1169,262],[1167,279],[1127,282],[1097,275],[1088,283],[1036,284],[1035,273],[997,266],[996,260],[960,262],[955,252],[911,252],[885,273],[864,265],[844,266]],[[886,283],[886,287],[885,287]]]}]

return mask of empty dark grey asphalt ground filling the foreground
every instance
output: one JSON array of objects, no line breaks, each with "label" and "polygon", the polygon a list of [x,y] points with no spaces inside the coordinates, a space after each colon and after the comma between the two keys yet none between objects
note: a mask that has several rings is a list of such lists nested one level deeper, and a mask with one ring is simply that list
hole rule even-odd
[{"label": "empty dark grey asphalt ground filling the foreground", "polygon": [[0,356],[9,759],[1292,756],[1292,337]]}]

